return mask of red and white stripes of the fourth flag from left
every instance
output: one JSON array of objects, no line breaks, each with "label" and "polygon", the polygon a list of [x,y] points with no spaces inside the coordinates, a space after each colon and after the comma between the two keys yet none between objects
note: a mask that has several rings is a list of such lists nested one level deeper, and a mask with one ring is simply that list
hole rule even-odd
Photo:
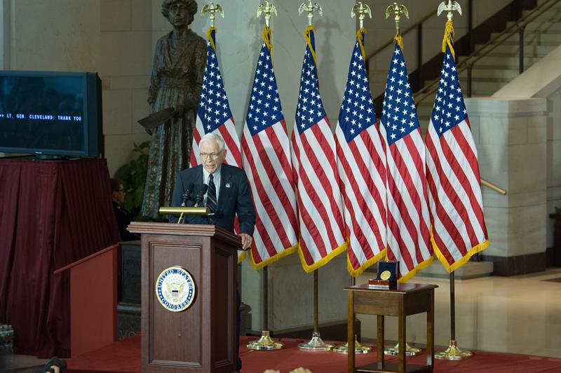
[{"label": "red and white stripes of the fourth flag from left", "polygon": [[335,129],[341,179],[349,272],[358,276],[385,255],[386,152],[375,126],[346,142]]}]

